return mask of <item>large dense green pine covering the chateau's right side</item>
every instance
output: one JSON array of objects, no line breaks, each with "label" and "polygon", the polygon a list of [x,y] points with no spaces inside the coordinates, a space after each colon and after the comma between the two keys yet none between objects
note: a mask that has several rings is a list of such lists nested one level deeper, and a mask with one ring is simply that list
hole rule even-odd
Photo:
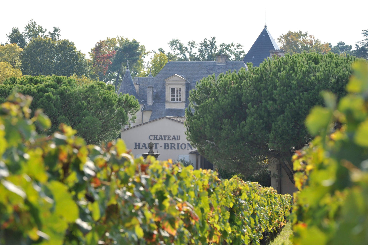
[{"label": "large dense green pine covering the chateau's right side", "polygon": [[302,53],[204,78],[189,95],[187,138],[218,168],[247,175],[255,163],[274,158],[294,182],[291,155],[312,139],[304,118],[322,104],[322,90],[345,94],[352,62]]}]

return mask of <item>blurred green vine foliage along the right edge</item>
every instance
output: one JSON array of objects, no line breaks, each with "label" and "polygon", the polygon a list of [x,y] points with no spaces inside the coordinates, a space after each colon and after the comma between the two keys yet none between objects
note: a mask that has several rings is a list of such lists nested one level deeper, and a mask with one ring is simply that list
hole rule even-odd
[{"label": "blurred green vine foliage along the right edge", "polygon": [[325,92],[306,118],[317,136],[293,157],[293,244],[368,244],[368,65],[353,68],[348,95]]}]

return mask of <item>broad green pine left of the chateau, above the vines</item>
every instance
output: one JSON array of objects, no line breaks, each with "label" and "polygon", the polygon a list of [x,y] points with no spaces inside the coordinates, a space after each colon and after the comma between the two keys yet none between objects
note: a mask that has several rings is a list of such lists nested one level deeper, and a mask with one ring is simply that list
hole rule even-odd
[{"label": "broad green pine left of the chateau, above the vines", "polygon": [[47,134],[65,123],[77,129],[88,144],[116,139],[139,110],[134,96],[117,95],[113,86],[103,82],[81,86],[74,79],[58,76],[10,78],[0,88],[0,102],[13,90],[31,95],[31,109],[42,108],[49,116],[52,127]]}]

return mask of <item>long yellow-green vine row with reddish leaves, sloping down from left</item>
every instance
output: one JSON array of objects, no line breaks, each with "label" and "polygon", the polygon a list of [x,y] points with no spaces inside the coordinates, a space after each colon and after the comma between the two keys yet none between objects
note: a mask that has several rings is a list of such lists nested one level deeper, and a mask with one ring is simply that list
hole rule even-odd
[{"label": "long yellow-green vine row with reddish leaves, sloping down from left", "polygon": [[[238,177],[149,157],[123,141],[52,135],[31,97],[0,107],[0,244],[259,244],[282,227],[290,195]],[[31,115],[34,115],[31,117]]]}]

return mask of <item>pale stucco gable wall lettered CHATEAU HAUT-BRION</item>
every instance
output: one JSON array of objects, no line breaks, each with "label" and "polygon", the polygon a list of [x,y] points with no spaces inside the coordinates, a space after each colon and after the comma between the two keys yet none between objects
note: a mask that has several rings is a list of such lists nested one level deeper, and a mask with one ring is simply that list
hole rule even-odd
[{"label": "pale stucco gable wall lettered CHATEAU HAUT-BRION", "polygon": [[[148,153],[148,143],[155,143],[153,151],[159,153],[158,160],[178,160],[179,155],[188,156],[195,166],[195,154],[189,152],[195,150],[187,141],[186,128],[183,123],[160,118],[149,123],[125,129],[121,132],[121,138],[134,156]],[[161,136],[161,137],[160,137]]]}]

